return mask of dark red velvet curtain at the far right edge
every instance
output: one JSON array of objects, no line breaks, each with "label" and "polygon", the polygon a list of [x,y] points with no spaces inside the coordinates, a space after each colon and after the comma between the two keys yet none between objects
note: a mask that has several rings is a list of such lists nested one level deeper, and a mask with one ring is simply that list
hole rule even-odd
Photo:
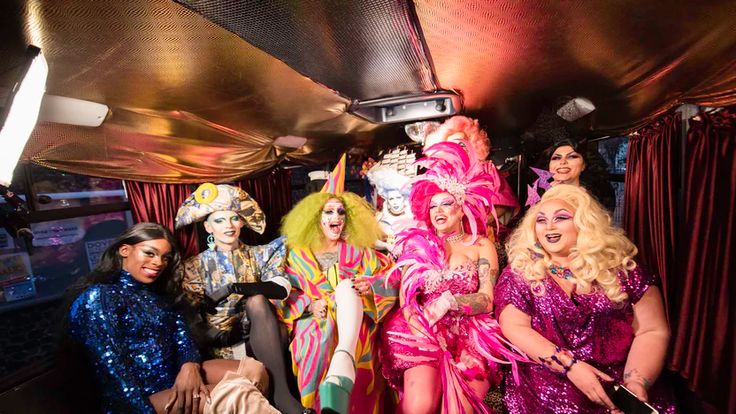
[{"label": "dark red velvet curtain at the far right edge", "polygon": [[736,111],[699,118],[687,136],[672,366],[705,401],[736,413]]}]

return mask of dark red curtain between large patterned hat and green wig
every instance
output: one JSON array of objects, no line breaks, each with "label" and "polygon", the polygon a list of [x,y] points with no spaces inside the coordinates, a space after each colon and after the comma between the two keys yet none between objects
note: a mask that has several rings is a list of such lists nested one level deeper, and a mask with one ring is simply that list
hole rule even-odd
[{"label": "dark red curtain between large patterned hat and green wig", "polygon": [[276,169],[268,174],[246,178],[236,183],[248,192],[266,214],[266,231],[258,234],[244,230],[240,239],[250,245],[266,244],[279,236],[281,218],[291,210],[291,173]]}]

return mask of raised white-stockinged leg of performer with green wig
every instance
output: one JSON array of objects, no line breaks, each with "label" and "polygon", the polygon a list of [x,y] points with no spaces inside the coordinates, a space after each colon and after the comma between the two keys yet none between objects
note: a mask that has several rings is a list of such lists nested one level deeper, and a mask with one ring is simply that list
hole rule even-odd
[{"label": "raised white-stockinged leg of performer with green wig", "polygon": [[[355,293],[353,282],[345,279],[338,283],[335,288],[335,304],[337,306],[337,347],[343,349],[355,357],[355,349],[358,347],[358,334],[363,322],[363,300]],[[347,377],[355,382],[355,365],[350,356],[344,352],[332,355],[330,368],[327,376],[339,375]],[[331,381],[326,378],[325,381]],[[336,380],[332,379],[332,382]]]}]

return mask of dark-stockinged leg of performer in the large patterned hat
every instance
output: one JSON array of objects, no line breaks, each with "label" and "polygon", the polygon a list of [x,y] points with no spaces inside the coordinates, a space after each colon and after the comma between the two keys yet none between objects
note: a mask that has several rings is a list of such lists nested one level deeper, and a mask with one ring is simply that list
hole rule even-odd
[{"label": "dark-stockinged leg of performer in the large patterned hat", "polygon": [[281,331],[271,309],[271,304],[263,295],[246,299],[245,312],[251,322],[250,346],[257,360],[266,366],[273,381],[274,405],[286,414],[301,413],[304,407],[291,395],[284,353],[281,348]]}]

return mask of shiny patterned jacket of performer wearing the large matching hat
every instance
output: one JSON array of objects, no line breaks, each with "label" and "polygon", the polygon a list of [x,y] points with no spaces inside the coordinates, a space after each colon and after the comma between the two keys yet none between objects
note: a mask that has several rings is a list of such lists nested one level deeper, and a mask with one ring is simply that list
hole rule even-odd
[{"label": "shiny patterned jacket of performer wearing the large matching hat", "polygon": [[[286,245],[283,237],[262,246],[241,244],[228,252],[205,250],[187,259],[178,270],[177,280],[187,300],[201,309],[205,294],[210,294],[229,283],[274,282],[291,290],[284,274]],[[242,295],[232,294],[218,304],[214,315],[207,314],[207,323],[221,331],[229,331],[242,318],[247,318],[242,306]],[[234,358],[229,346],[210,350],[217,358]]]}]

